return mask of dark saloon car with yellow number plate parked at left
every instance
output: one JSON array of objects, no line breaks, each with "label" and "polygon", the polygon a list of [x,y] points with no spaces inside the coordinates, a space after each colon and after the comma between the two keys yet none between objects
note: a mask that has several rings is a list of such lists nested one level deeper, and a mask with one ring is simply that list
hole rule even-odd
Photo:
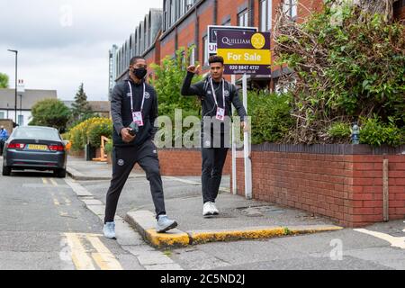
[{"label": "dark saloon car with yellow number plate parked at left", "polygon": [[53,171],[66,177],[68,141],[58,130],[49,127],[24,126],[14,129],[4,145],[3,175],[12,170]]}]

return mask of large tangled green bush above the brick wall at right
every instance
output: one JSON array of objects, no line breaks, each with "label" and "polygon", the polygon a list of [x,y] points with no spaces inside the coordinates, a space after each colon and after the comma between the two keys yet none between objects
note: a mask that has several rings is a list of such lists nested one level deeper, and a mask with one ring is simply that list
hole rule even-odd
[{"label": "large tangled green bush above the brick wall at right", "polygon": [[[304,23],[280,21],[275,31],[276,64],[295,71],[296,124],[287,139],[348,141],[347,127],[339,123],[367,119],[365,143],[405,144],[398,136],[405,127],[405,26],[357,5],[336,9],[334,2]],[[386,135],[389,130],[395,136]]]}]

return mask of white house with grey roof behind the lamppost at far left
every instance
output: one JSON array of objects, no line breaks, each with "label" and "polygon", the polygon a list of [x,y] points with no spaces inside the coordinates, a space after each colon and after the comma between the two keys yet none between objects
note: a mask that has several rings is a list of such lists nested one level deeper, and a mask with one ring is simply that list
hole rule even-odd
[{"label": "white house with grey roof behind the lamppost at far left", "polygon": [[[17,124],[28,125],[32,120],[32,106],[44,99],[57,99],[56,90],[30,90],[25,89],[23,94],[17,95]],[[15,90],[0,89],[0,119],[14,121]]]}]

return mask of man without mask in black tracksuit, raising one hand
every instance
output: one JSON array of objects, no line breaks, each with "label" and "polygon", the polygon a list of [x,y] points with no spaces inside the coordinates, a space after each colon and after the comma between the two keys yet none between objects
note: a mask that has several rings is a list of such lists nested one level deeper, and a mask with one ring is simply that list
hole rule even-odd
[{"label": "man without mask in black tracksuit, raising one hand", "polygon": [[[182,88],[184,96],[198,95],[202,100],[202,198],[204,203],[202,215],[204,217],[219,213],[215,201],[229,150],[227,136],[232,104],[238,116],[241,117],[242,127],[247,130],[247,112],[240,102],[238,90],[235,85],[229,84],[223,78],[223,58],[212,56],[209,62],[211,75],[195,85],[192,85],[192,80],[198,67],[188,67]],[[215,122],[219,122],[220,125],[215,125]]]}]

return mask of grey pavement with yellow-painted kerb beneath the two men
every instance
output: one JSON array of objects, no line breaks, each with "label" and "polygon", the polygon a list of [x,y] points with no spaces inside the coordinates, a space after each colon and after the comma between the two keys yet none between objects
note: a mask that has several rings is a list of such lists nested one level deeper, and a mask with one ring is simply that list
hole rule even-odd
[{"label": "grey pavement with yellow-painted kerb beneath the two men", "polygon": [[[94,187],[92,193],[95,199],[98,193],[98,199],[103,201],[106,191],[100,193],[99,186],[94,183],[111,180],[112,166],[103,162],[69,157],[67,174],[81,183],[88,182],[89,190]],[[280,238],[342,229],[328,219],[316,217],[305,211],[233,195],[229,193],[229,175],[224,175],[220,186],[217,202],[220,215],[203,218],[200,177],[162,176],[162,179],[166,211],[169,211],[170,218],[178,221],[177,229],[165,234],[156,232],[153,203],[150,200],[145,201],[148,197],[146,176],[139,171],[133,171],[127,182],[130,190],[135,190],[137,193],[136,202],[139,203],[128,203],[127,199],[122,200],[127,196],[121,195],[119,211],[117,211],[118,220],[125,220],[151,247],[158,249],[193,247],[210,242]],[[82,196],[88,193],[88,190],[79,184],[76,191]],[[97,208],[91,204],[89,202],[89,209]],[[122,209],[120,206],[124,206],[126,211],[120,211]],[[94,213],[103,215],[103,211],[94,211]]]}]

